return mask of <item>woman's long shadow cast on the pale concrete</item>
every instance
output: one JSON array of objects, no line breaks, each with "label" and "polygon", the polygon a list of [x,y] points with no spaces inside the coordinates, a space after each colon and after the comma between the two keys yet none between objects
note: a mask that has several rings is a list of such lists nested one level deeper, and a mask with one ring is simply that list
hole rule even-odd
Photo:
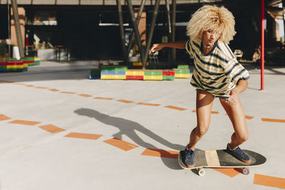
[{"label": "woman's long shadow cast on the pale concrete", "polygon": [[[160,142],[160,144],[165,145],[166,147],[170,147],[171,149],[181,150],[185,147],[180,144],[173,144],[166,139],[163,139],[162,137],[158,136],[154,132],[151,132],[147,128],[140,125],[138,122],[133,122],[131,120],[125,120],[120,117],[113,117],[110,115],[105,115],[103,113],[100,113],[96,110],[91,110],[88,108],[81,108],[74,111],[78,115],[84,115],[87,117],[94,118],[95,120],[98,120],[100,122],[103,122],[106,125],[112,125],[113,127],[117,127],[120,132],[113,134],[113,137],[122,139],[122,135],[125,134],[126,136],[130,137],[136,144],[138,144],[140,147],[145,147],[147,149],[157,149],[157,152],[160,154],[170,154],[169,152],[166,152],[164,150],[158,149],[154,145],[145,142],[135,131],[141,132],[142,134],[147,135],[148,137],[154,139],[157,142]],[[169,167],[170,169],[181,169],[179,164],[177,163],[177,159],[167,159],[164,157],[161,157],[162,162],[165,164],[165,166]]]}]

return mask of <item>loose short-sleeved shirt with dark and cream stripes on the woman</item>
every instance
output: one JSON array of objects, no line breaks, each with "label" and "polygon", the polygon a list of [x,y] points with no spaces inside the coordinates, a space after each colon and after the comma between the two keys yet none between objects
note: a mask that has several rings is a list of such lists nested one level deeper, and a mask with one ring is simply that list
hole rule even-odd
[{"label": "loose short-sleeved shirt with dark and cream stripes on the woman", "polygon": [[237,61],[226,43],[216,41],[204,55],[202,41],[188,40],[186,50],[194,58],[195,68],[191,85],[216,97],[229,98],[227,92],[236,87],[239,80],[249,79],[249,72]]}]

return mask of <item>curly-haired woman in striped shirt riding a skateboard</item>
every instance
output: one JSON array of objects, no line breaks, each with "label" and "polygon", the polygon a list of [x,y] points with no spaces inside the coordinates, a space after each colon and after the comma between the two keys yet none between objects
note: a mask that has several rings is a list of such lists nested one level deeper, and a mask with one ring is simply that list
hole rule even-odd
[{"label": "curly-haired woman in striped shirt riding a skateboard", "polygon": [[188,41],[154,44],[150,54],[162,48],[186,48],[194,58],[195,68],[191,85],[197,90],[197,127],[190,134],[190,142],[181,152],[182,161],[189,168],[195,167],[195,145],[209,129],[214,97],[219,97],[234,127],[227,152],[244,163],[250,157],[239,148],[247,141],[248,130],[239,94],[248,85],[249,73],[234,57],[227,45],[235,35],[234,16],[226,8],[203,6],[192,15],[187,25]]}]

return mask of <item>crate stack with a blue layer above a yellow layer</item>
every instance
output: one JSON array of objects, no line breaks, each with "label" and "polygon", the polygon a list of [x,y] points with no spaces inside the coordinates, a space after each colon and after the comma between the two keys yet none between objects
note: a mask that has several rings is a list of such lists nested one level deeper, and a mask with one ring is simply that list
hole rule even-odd
[{"label": "crate stack with a blue layer above a yellow layer", "polygon": [[101,79],[125,80],[127,66],[103,66],[101,68]]}]

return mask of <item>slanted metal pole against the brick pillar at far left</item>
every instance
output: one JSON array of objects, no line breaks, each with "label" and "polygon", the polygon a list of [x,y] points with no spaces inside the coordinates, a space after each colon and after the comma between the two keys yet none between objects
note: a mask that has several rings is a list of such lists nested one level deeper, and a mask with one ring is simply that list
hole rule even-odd
[{"label": "slanted metal pole against the brick pillar at far left", "polygon": [[17,0],[11,0],[11,3],[12,3],[12,9],[13,9],[13,15],[14,15],[14,21],[15,21],[19,53],[20,53],[20,57],[24,58],[25,55],[24,55],[24,47],[23,47],[23,41],[22,41],[22,36],[21,36],[21,26],[20,26],[20,21],[19,21]]}]

